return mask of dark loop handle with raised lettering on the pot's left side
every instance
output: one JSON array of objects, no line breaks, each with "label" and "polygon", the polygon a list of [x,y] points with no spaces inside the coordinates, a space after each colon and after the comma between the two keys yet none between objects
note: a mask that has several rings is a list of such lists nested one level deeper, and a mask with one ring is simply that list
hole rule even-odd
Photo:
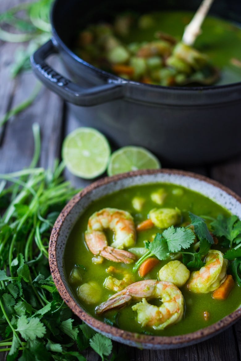
[{"label": "dark loop handle with raised lettering on the pot's left side", "polygon": [[124,97],[124,83],[107,83],[92,88],[82,88],[53,70],[45,59],[57,53],[52,40],[43,44],[31,56],[31,65],[36,76],[64,100],[83,106],[102,104]]}]

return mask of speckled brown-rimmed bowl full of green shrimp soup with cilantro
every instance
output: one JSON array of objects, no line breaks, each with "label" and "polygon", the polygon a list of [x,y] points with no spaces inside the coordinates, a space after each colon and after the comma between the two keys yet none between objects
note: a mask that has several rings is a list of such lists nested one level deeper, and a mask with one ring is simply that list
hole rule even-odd
[{"label": "speckled brown-rimmed bowl full of green shrimp soup with cilantro", "polygon": [[150,349],[197,343],[241,316],[240,218],[240,197],[201,175],[104,178],[57,218],[52,277],[70,309],[113,340]]}]

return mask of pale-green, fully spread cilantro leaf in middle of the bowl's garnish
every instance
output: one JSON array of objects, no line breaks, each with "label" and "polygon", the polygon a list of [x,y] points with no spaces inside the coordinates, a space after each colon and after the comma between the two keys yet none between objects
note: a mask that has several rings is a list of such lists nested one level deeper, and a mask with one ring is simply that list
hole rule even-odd
[{"label": "pale-green, fully spread cilantro leaf in middle of the bowl's garnish", "polygon": [[168,249],[171,253],[181,251],[182,248],[189,248],[195,239],[195,234],[190,229],[184,227],[171,226],[163,231],[163,237],[167,241]]}]

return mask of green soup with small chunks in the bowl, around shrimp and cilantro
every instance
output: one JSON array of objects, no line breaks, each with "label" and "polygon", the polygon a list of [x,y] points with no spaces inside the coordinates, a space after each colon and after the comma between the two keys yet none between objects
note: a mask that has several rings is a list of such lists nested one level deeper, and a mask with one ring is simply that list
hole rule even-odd
[{"label": "green soup with small chunks in the bowl, around shrimp and cilantro", "polygon": [[[104,286],[108,277],[111,277],[112,280],[127,280],[126,282],[129,283],[148,279],[158,280],[159,270],[170,261],[170,258],[158,261],[151,271],[144,277],[140,277],[138,271],[133,271],[134,262],[125,264],[123,262],[113,262],[106,258],[102,259],[102,257],[98,256],[94,257],[85,242],[88,220],[94,212],[107,207],[129,212],[134,219],[135,226],[148,218],[151,209],[168,208],[176,210],[181,215],[177,221],[177,226],[185,225],[185,227],[190,224],[188,212],[205,217],[205,219],[216,218],[219,214],[225,217],[230,216],[227,210],[205,196],[184,187],[166,183],[133,186],[92,203],[74,226],[66,244],[64,255],[65,272],[69,279],[69,285],[79,300],[79,304],[92,316],[128,331],[154,335],[181,335],[211,325],[238,308],[241,299],[241,288],[236,282],[227,299],[218,300],[212,297],[213,292],[192,292],[187,287],[190,282],[189,279],[187,282],[184,281],[183,286],[179,287],[184,297],[183,316],[175,325],[170,324],[164,330],[155,330],[153,327],[142,326],[138,322],[137,312],[132,309],[132,306],[137,301],[126,304],[122,309],[107,310],[97,315],[95,312],[96,306],[108,300],[111,295],[117,292]],[[206,222],[208,224],[210,221]],[[129,251],[135,252],[136,260],[138,260],[143,254],[145,241],[152,242],[155,235],[162,233],[162,231],[163,229],[157,226],[137,231],[135,244],[132,247],[126,247],[125,250],[129,249]],[[108,243],[113,242],[113,239],[115,239],[113,232],[108,230],[105,231],[105,234]],[[211,249],[226,251],[219,244],[212,244]],[[182,262],[181,255],[176,255],[175,258]],[[83,284],[90,285],[89,288],[93,286],[92,291],[87,291],[87,293],[89,292],[87,298],[86,295],[83,297],[82,292],[80,292],[80,287]],[[123,287],[125,287],[125,284]],[[149,302],[157,306],[161,304],[158,297],[154,297]]]}]

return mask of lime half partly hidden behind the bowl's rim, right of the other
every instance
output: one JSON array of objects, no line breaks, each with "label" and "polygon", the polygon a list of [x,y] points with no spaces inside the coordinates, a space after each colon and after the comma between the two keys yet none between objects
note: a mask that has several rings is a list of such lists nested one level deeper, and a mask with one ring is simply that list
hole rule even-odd
[{"label": "lime half partly hidden behind the bowl's rim, right of the other", "polygon": [[107,173],[114,175],[138,169],[158,169],[160,166],[158,158],[147,149],[129,145],[112,153]]}]

